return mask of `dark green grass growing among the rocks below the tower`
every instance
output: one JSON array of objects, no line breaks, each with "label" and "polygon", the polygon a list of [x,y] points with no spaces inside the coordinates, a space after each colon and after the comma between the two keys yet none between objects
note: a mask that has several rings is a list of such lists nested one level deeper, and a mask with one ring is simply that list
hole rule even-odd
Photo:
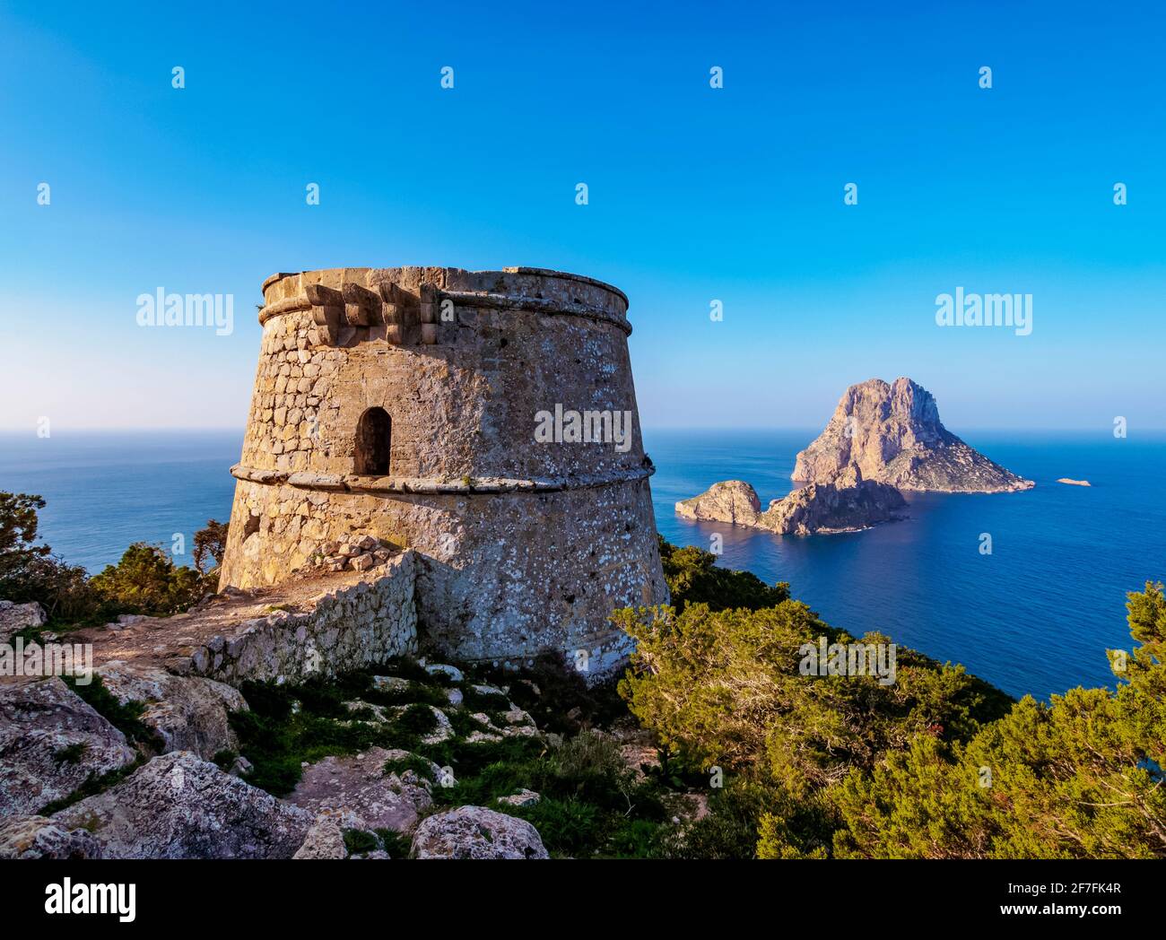
[{"label": "dark green grass growing among the rocks below the tower", "polygon": [[[410,669],[413,685],[408,689],[417,693],[420,701],[403,702],[396,693],[379,696],[372,688],[373,675],[401,675]],[[428,681],[415,678],[417,671]],[[468,686],[480,681],[476,673],[466,671],[466,675],[473,674],[475,679],[458,683],[463,695]],[[552,667],[547,666],[540,673],[541,682],[534,680],[540,690],[550,674]],[[580,708],[584,716],[593,717],[603,711],[595,699],[588,697],[590,690],[576,686],[577,676],[559,675],[562,693],[554,701],[573,702],[571,707]],[[522,694],[520,690],[528,687],[514,682],[513,678],[511,674],[508,680],[512,697],[517,700]],[[539,701],[533,690],[529,692],[532,699],[519,702],[527,710]],[[434,703],[448,715],[456,737],[424,745],[421,739],[437,728],[437,718],[429,707],[434,694],[441,695]],[[659,781],[637,783],[624,765],[618,743],[609,736],[584,730],[568,737],[561,746],[548,746],[542,738],[532,737],[466,743],[470,734],[483,730],[470,717],[471,711],[485,711],[497,724],[505,725],[500,714],[500,708],[508,704],[501,701],[505,696],[466,696],[463,708],[449,708],[443,686],[416,664],[406,665],[405,669],[395,665],[378,666],[326,683],[279,687],[247,683],[244,696],[252,710],[232,714],[231,727],[239,736],[240,753],[254,765],[247,780],[278,797],[295,788],[304,762],[381,746],[410,752],[409,757],[386,762],[387,773],[412,770],[419,777],[431,779],[430,760],[452,770],[457,780],[454,786],[434,781],[437,784],[433,787],[434,812],[465,805],[503,811],[499,797],[521,788],[540,793],[542,800],[538,805],[505,807],[505,812],[529,820],[539,829],[547,849],[556,855],[640,856],[652,850],[656,833],[667,819]],[[405,704],[406,708],[389,722],[352,722],[343,703],[353,699],[386,706]],[[296,702],[298,708],[294,709]],[[571,727],[571,723],[563,727]],[[407,857],[410,848],[407,839],[381,832],[375,835],[392,857]],[[367,844],[367,840],[361,844]],[[353,851],[351,847],[350,851]]]}]

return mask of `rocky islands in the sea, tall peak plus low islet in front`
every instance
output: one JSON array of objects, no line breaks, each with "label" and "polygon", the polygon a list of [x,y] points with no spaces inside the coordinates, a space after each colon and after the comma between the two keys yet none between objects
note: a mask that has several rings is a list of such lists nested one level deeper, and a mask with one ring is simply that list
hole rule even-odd
[{"label": "rocky islands in the sea, tall peak plus low islet in front", "polygon": [[806,485],[764,512],[750,484],[729,479],[679,501],[676,513],[782,535],[829,534],[905,518],[901,490],[997,493],[1035,485],[944,428],[934,397],[908,378],[851,385],[791,476]]}]

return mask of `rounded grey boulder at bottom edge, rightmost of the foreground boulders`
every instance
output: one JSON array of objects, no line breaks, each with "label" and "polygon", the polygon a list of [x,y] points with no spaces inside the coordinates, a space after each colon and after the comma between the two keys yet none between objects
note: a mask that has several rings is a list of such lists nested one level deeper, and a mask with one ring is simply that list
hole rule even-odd
[{"label": "rounded grey boulder at bottom edge, rightmost of the foreground boulders", "polygon": [[423,820],[414,858],[548,858],[529,822],[482,806],[459,806]]}]

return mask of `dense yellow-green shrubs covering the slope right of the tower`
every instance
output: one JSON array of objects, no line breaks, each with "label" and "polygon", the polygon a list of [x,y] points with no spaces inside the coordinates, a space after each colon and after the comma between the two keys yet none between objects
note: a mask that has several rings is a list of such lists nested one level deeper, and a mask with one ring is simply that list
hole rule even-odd
[{"label": "dense yellow-green shrubs covering the slope right of the tower", "polygon": [[1111,653],[1117,690],[1044,704],[906,647],[891,685],[803,676],[802,644],[852,638],[788,598],[743,604],[756,584],[663,550],[683,609],[617,611],[637,641],[620,692],[665,755],[736,776],[655,854],[1166,857],[1161,584],[1129,595],[1135,648]]}]

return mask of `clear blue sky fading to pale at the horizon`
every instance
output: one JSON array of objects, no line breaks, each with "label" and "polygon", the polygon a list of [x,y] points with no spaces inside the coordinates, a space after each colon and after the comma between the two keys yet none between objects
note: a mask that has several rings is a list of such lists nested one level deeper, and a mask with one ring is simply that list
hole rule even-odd
[{"label": "clear blue sky fading to pale at the horizon", "polygon": [[[241,426],[262,279],[399,264],[618,285],[647,427],[899,374],[956,432],[1166,427],[1160,3],[486,6],[0,3],[0,427]],[[1032,335],[937,328],[957,286]]]}]

